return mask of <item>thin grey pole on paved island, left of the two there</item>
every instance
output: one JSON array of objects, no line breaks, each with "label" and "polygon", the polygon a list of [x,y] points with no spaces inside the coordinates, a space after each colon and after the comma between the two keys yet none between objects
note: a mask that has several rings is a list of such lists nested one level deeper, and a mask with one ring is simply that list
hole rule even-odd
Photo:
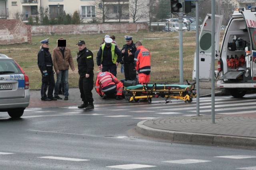
[{"label": "thin grey pole on paved island, left of the two there", "polygon": [[196,116],[200,115],[199,105],[199,3],[196,1]]}]

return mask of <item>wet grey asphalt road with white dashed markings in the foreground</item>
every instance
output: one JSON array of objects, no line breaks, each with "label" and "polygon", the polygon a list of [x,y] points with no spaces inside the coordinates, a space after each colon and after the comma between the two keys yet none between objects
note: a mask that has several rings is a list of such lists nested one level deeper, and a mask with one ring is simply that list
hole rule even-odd
[{"label": "wet grey asphalt road with white dashed markings in the foreground", "polygon": [[[226,102],[229,98],[216,97]],[[89,111],[77,107],[29,108],[21,119],[1,113],[0,170],[256,170],[256,150],[171,143],[134,130],[144,119],[189,112],[161,107],[194,107],[192,104],[174,100],[171,104],[96,105]]]}]

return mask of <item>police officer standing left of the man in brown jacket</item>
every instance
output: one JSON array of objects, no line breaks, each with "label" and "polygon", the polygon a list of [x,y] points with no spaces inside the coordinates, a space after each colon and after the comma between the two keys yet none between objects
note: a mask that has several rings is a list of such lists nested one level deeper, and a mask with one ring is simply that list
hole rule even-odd
[{"label": "police officer standing left of the man in brown jacket", "polygon": [[[42,44],[40,51],[37,55],[37,64],[42,73],[42,86],[41,86],[41,100],[51,101],[57,100],[52,96],[55,81],[53,72],[52,55],[49,52],[49,39],[44,39],[40,41]],[[46,96],[46,90],[48,87],[48,92]]]}]

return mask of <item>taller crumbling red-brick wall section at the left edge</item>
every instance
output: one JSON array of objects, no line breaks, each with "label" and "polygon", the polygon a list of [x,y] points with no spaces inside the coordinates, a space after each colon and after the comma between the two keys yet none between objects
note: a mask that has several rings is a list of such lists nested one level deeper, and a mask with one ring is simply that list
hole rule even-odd
[{"label": "taller crumbling red-brick wall section at the left edge", "polygon": [[31,43],[31,26],[20,20],[0,20],[0,44]]}]

